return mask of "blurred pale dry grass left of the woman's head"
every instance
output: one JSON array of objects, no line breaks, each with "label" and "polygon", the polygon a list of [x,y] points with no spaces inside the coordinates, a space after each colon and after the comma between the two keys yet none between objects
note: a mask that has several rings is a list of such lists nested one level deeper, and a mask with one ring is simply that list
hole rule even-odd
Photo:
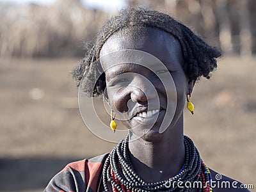
[{"label": "blurred pale dry grass left of the woman's head", "polygon": [[50,6],[0,4],[0,56],[81,55],[81,39],[92,40],[108,17],[79,1]]}]

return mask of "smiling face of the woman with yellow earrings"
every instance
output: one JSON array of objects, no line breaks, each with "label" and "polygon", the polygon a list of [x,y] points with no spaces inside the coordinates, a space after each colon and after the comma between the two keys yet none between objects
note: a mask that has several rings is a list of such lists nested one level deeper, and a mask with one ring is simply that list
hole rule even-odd
[{"label": "smiling face of the woman with yellow earrings", "polygon": [[[151,54],[164,66],[154,63],[154,59],[144,62],[145,65],[138,65],[139,61],[127,62],[131,60],[131,54],[125,52],[115,55],[118,65],[106,57],[116,51],[131,49]],[[193,88],[182,68],[184,60],[178,40],[154,28],[146,28],[140,38],[129,33],[116,33],[102,46],[100,57],[106,74],[109,104],[125,127],[145,141],[157,141],[163,137],[160,127],[164,116],[169,113],[173,115],[169,118],[168,129],[175,127],[182,118],[186,93]],[[133,60],[136,60],[135,55]],[[144,60],[143,56],[138,56],[138,60]]]}]

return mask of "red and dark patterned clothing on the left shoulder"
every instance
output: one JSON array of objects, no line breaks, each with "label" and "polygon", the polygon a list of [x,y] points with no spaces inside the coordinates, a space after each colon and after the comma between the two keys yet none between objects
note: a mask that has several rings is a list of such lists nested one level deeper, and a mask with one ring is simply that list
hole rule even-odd
[{"label": "red and dark patterned clothing on the left shoulder", "polygon": [[108,154],[67,164],[55,175],[44,192],[99,191],[102,169]]}]

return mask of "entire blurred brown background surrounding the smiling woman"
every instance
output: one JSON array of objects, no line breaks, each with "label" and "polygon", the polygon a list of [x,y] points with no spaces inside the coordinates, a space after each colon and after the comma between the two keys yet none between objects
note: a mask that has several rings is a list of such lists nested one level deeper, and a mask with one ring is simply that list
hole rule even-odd
[{"label": "entire blurred brown background surrounding the smiling woman", "polygon": [[223,51],[211,80],[195,86],[185,134],[210,168],[256,185],[256,1],[1,0],[0,191],[42,191],[68,162],[115,146],[84,125],[68,73],[104,21],[137,4],[170,13]]}]

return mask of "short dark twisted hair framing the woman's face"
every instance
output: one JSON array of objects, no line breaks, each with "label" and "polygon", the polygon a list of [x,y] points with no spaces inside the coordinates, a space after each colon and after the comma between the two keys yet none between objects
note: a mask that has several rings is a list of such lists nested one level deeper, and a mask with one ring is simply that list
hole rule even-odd
[{"label": "short dark twisted hair framing the woman's face", "polygon": [[170,15],[151,8],[134,6],[125,8],[118,15],[111,17],[99,30],[95,42],[88,44],[85,57],[71,72],[76,86],[81,86],[86,95],[101,95],[106,88],[106,77],[100,63],[96,61],[99,59],[102,45],[109,36],[123,29],[129,29],[129,33],[136,34],[140,33],[141,28],[147,27],[166,31],[179,40],[185,61],[184,72],[189,81],[196,81],[201,76],[210,78],[210,72],[217,67],[216,58],[221,56],[216,47],[206,44],[191,29]]}]

